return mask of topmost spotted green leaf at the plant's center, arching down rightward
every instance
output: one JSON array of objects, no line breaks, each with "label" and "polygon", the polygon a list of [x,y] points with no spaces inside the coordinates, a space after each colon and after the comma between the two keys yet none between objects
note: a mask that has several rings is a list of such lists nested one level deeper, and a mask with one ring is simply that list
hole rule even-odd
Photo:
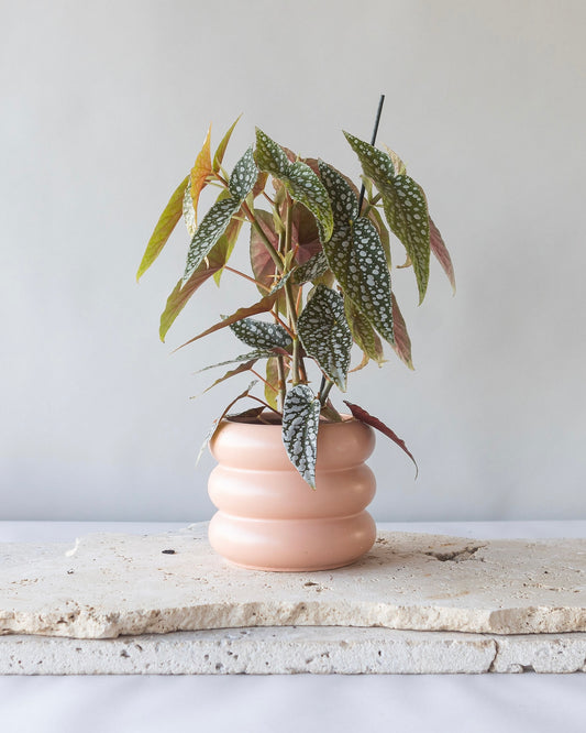
[{"label": "topmost spotted green leaf at the plant's center, arching down rightward", "polygon": [[255,157],[261,171],[283,182],[291,197],[311,211],[320,228],[322,241],[330,239],[332,207],[321,180],[309,165],[301,161],[290,162],[281,146],[258,128]]}]

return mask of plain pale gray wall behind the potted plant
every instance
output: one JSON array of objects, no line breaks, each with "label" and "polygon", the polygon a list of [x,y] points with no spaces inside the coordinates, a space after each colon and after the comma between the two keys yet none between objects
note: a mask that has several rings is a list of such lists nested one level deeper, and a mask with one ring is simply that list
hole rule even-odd
[{"label": "plain pale gray wall behind the potted plant", "polygon": [[254,294],[208,283],[162,344],[187,236],[136,285],[144,245],[210,120],[217,143],[244,112],[229,166],[258,124],[357,176],[341,130],[367,138],[380,92],[458,289],[435,265],[417,307],[399,271],[417,371],[351,381],[420,463],[379,441],[374,514],[585,516],[584,2],[26,0],[2,24],[0,518],[211,516],[195,457],[247,378],[190,401],[235,343],[169,353]]}]

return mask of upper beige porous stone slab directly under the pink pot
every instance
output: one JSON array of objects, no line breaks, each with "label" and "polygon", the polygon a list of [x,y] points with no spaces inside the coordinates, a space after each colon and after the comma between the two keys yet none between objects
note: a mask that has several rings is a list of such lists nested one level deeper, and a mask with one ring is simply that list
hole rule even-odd
[{"label": "upper beige porous stone slab directly under the pink pot", "polygon": [[3,545],[0,633],[112,638],[291,625],[586,631],[585,539],[380,533],[347,568],[267,573],[222,560],[206,532],[200,524],[159,535],[87,535],[75,546]]}]

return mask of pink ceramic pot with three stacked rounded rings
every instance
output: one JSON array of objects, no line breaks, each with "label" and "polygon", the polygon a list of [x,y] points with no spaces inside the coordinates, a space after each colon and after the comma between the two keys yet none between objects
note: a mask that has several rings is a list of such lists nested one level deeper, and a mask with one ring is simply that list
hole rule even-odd
[{"label": "pink ceramic pot with three stacked rounded rings", "polygon": [[321,424],[313,490],[289,462],[280,430],[222,422],[210,446],[219,462],[208,483],[219,510],[210,523],[211,546],[257,570],[327,570],[353,562],[376,538],[365,511],[376,483],[364,463],[374,431],[352,418]]}]

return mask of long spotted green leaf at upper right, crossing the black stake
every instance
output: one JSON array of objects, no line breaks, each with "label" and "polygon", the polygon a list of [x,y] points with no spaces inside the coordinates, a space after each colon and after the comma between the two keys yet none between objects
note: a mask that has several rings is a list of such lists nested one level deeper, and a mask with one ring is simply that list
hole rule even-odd
[{"label": "long spotted green leaf at upper right, crossing the black stake", "polygon": [[423,189],[407,174],[398,174],[389,155],[347,132],[344,134],[357,154],[364,173],[380,192],[388,226],[413,263],[419,302],[422,303],[430,261],[429,212]]}]

